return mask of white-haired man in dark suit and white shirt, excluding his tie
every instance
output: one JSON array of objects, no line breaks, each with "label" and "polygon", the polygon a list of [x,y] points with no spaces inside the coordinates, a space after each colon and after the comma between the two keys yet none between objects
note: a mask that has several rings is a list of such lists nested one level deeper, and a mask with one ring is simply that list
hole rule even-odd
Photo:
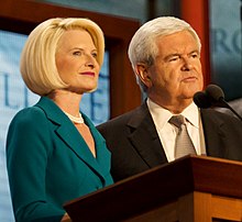
[{"label": "white-haired man in dark suit and white shirt, excluding his tie", "polygon": [[147,99],[98,126],[112,153],[116,181],[177,158],[178,130],[169,120],[178,114],[197,155],[242,160],[241,122],[193,102],[204,88],[200,48],[194,29],[172,16],[154,19],[134,34],[129,58]]}]

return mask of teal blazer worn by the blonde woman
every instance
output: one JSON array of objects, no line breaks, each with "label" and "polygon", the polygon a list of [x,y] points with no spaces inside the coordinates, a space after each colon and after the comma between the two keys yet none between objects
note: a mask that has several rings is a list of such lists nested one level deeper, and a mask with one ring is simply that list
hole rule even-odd
[{"label": "teal blazer worn by the blonde woman", "polygon": [[95,140],[96,158],[73,122],[46,97],[13,118],[7,168],[16,221],[61,221],[65,202],[113,182],[106,142],[82,118]]}]

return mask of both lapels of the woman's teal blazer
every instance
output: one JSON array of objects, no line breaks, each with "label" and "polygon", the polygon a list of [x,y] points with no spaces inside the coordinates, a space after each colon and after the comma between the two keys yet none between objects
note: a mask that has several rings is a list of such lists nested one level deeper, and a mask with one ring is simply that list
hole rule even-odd
[{"label": "both lapels of the woman's teal blazer", "polygon": [[[94,171],[103,177],[103,169],[100,167],[96,158],[92,156],[86,142],[80,136],[79,132],[70,122],[70,120],[64,114],[64,112],[62,112],[62,110],[52,100],[45,97],[41,98],[36,107],[43,109],[50,121],[56,124],[55,133],[58,135],[61,140],[63,140],[66,143],[67,147],[70,148],[82,162],[85,162],[86,165],[92,168]],[[86,115],[84,115],[84,120],[88,122],[87,124],[90,124],[90,121],[87,120]],[[96,145],[100,147],[105,143],[105,141],[98,133],[95,132],[94,127],[95,126],[91,124],[90,131],[94,135]],[[103,149],[98,147],[97,151]],[[103,155],[100,154],[100,152],[102,151],[99,151],[97,155]]]}]

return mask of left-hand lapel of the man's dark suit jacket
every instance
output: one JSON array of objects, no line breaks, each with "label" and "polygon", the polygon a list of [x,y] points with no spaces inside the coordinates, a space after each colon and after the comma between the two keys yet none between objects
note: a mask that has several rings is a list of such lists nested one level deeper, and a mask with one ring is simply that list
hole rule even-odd
[{"label": "left-hand lapel of the man's dark suit jacket", "polygon": [[146,102],[131,116],[128,127],[130,129],[129,140],[150,167],[167,163]]}]

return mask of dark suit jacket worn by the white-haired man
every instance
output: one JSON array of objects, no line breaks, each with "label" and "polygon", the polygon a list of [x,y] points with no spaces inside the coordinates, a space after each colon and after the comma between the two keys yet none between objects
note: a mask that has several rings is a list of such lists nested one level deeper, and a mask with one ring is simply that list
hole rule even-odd
[{"label": "dark suit jacket worn by the white-haired man", "polygon": [[[242,160],[242,123],[211,109],[201,110],[207,155]],[[116,181],[167,163],[146,102],[98,126],[111,151]]]}]

